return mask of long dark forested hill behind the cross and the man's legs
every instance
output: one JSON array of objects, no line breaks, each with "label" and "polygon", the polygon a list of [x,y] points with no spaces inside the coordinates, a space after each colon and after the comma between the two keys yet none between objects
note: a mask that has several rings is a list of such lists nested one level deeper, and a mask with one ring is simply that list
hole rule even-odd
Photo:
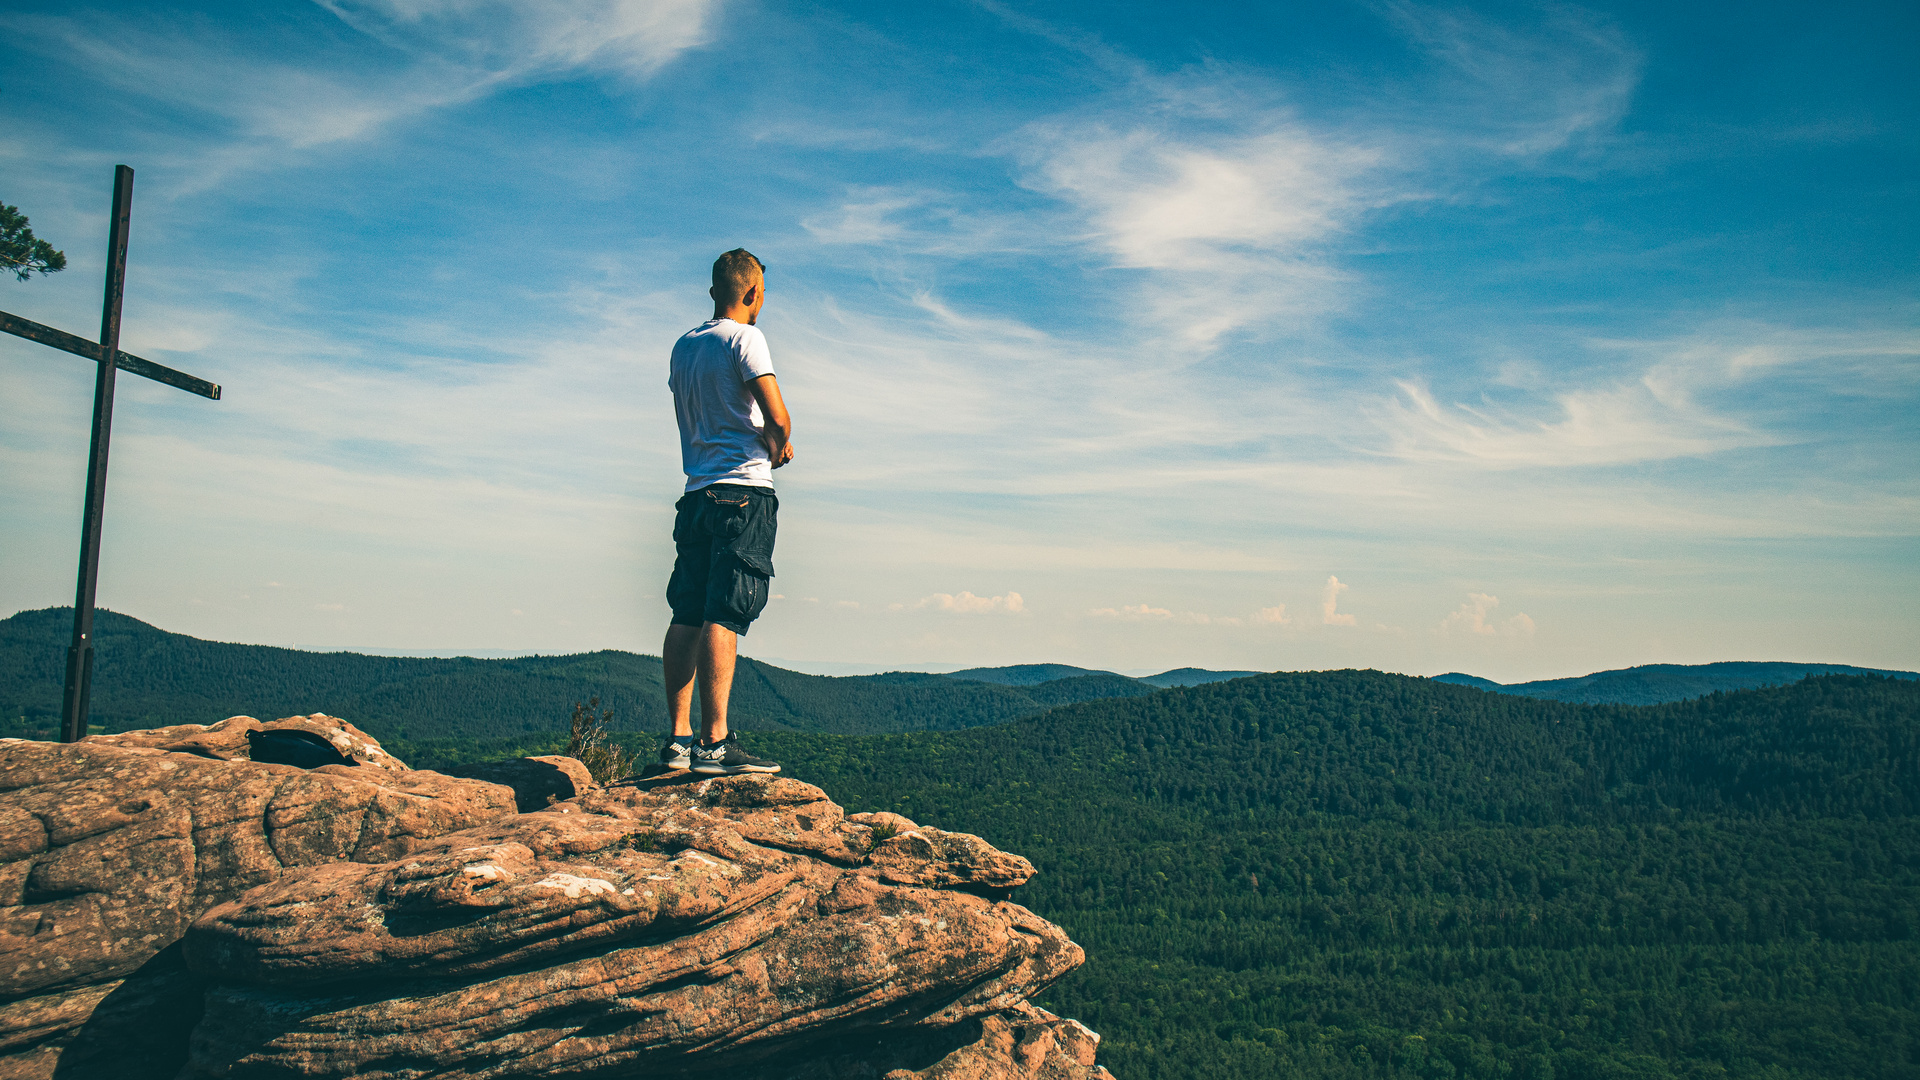
[{"label": "long dark forested hill behind the cross and the man's legs", "polygon": [[[0,621],[0,734],[54,732],[71,632],[71,607]],[[664,730],[660,659],[614,650],[516,659],[311,653],[205,642],[113,611],[96,613],[94,642],[90,723],[104,730],[321,711],[382,740],[524,740],[563,730],[572,703],[589,696],[614,711],[616,730]],[[745,730],[960,728],[1152,690],[1119,675],[1033,686],[920,673],[831,678],[741,657],[732,719]]]}]

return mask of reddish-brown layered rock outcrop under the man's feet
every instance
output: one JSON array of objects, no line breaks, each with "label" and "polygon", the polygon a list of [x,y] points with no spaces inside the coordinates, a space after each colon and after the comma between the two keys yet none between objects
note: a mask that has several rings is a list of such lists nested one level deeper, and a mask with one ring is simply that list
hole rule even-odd
[{"label": "reddish-brown layered rock outcrop under the man's feet", "polygon": [[[250,759],[309,744],[351,765]],[[1106,1076],[1029,1003],[1083,957],[1018,855],[781,776],[470,773],[321,715],[0,740],[0,1080]]]}]

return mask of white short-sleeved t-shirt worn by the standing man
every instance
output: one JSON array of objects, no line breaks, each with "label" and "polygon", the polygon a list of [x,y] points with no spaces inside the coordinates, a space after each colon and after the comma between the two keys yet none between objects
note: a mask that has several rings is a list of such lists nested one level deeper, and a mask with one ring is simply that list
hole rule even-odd
[{"label": "white short-sleeved t-shirt worn by the standing man", "polygon": [[710,319],[674,342],[666,384],[680,419],[680,467],[687,490],[707,484],[774,486],[766,417],[747,382],[774,373],[766,334],[733,319]]}]

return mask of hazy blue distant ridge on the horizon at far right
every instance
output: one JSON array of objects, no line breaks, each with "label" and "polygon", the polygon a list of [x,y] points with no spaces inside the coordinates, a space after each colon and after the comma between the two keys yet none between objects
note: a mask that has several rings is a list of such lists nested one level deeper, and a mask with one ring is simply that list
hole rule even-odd
[{"label": "hazy blue distant ridge on the horizon at far right", "polygon": [[1786,686],[1809,675],[1882,675],[1920,678],[1914,671],[1853,667],[1847,663],[1720,661],[1720,663],[1644,663],[1617,671],[1596,671],[1576,678],[1538,678],[1534,682],[1494,682],[1478,675],[1450,671],[1434,682],[1473,686],[1492,694],[1517,694],[1544,701],[1576,705],[1665,705],[1726,690]]}]

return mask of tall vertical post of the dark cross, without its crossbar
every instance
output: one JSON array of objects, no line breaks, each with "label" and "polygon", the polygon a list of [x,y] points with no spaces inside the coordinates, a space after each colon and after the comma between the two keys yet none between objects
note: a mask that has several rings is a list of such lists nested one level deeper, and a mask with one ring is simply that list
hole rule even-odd
[{"label": "tall vertical post of the dark cross, without its crossbar", "polygon": [[113,221],[108,229],[108,286],[100,306],[100,352],[94,373],[94,438],[86,452],[86,509],[81,515],[81,580],[73,596],[73,644],[60,701],[60,742],[86,738],[94,678],[94,586],[100,582],[100,525],[108,498],[108,442],[113,436],[113,371],[119,367],[119,313],[127,292],[127,227],[132,223],[132,169],[113,169]]}]

